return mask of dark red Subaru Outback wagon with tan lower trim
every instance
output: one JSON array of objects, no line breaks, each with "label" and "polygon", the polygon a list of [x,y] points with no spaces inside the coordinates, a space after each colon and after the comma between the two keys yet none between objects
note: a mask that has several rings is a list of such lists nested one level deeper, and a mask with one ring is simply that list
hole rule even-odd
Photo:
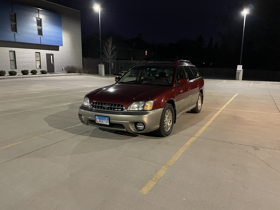
[{"label": "dark red Subaru Outback wagon with tan lower trim", "polygon": [[204,80],[187,60],[147,61],[115,81],[85,95],[83,124],[164,137],[181,114],[201,110]]}]

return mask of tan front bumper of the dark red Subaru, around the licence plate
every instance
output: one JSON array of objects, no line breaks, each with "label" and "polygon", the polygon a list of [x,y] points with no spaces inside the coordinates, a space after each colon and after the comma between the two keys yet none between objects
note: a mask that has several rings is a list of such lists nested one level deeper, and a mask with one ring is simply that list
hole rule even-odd
[{"label": "tan front bumper of the dark red Subaru, around the licence plate", "polygon": [[[92,125],[112,130],[123,130],[130,133],[147,133],[159,128],[161,113],[163,108],[152,111],[123,111],[122,113],[97,111],[88,106],[81,105],[78,111],[80,121],[85,125]],[[84,121],[82,120],[84,116]],[[110,117],[110,125],[102,125],[95,122],[95,115]],[[136,122],[142,122],[145,125],[144,130],[137,130]]]}]

